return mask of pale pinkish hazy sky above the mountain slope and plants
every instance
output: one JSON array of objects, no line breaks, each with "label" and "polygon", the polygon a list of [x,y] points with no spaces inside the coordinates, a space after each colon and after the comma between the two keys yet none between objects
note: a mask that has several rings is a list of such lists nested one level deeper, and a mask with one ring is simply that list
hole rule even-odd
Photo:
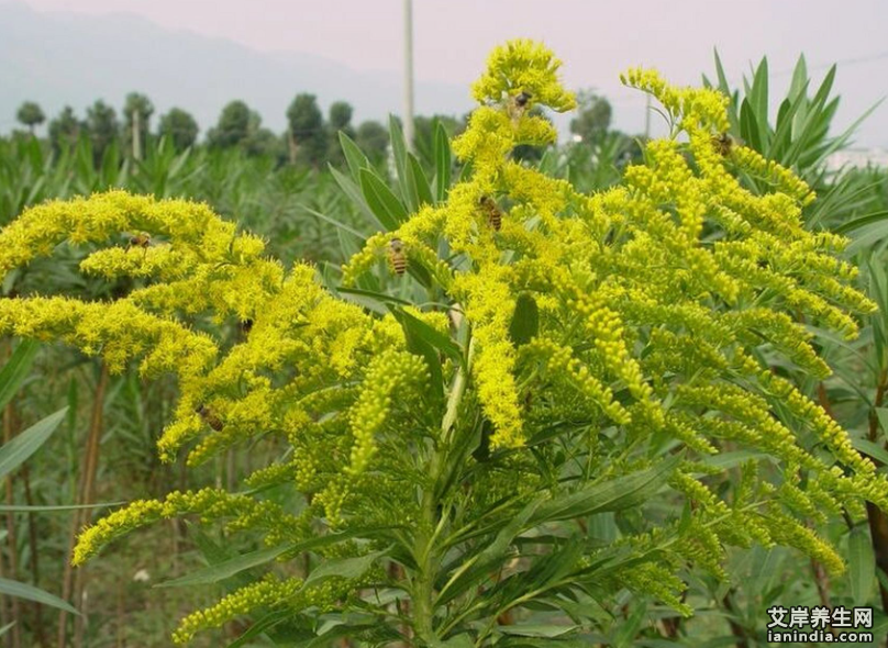
[{"label": "pale pinkish hazy sky above the mountain slope and plants", "polygon": [[[260,51],[309,53],[355,69],[402,64],[402,0],[25,1],[41,10],[131,12],[166,27]],[[637,121],[644,100],[620,87],[622,69],[655,66],[675,81],[696,83],[712,70],[713,46],[735,78],[763,55],[782,82],[800,53],[817,77],[839,62],[841,123],[888,94],[887,0],[414,0],[413,18],[419,79],[466,85],[491,46],[541,38],[564,59],[571,87],[602,90],[618,114]],[[888,108],[877,110],[858,139],[888,145]]]}]

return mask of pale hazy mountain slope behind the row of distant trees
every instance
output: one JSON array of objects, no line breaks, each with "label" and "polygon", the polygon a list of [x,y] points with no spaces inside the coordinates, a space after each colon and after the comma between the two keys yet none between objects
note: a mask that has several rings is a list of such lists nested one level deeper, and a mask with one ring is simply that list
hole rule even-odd
[{"label": "pale hazy mountain slope behind the row of distant trees", "polygon": [[[397,74],[356,71],[310,54],[266,54],[126,13],[43,13],[0,3],[0,133],[15,126],[25,100],[40,103],[47,118],[66,104],[82,116],[97,99],[120,112],[131,91],[152,99],[155,120],[177,105],[193,114],[204,133],[233,99],[258,111],[264,125],[282,131],[298,92],[317,94],[323,109],[348,101],[355,123],[400,112],[402,94]],[[463,87],[418,82],[415,93],[420,114],[462,114],[473,104]]]}]

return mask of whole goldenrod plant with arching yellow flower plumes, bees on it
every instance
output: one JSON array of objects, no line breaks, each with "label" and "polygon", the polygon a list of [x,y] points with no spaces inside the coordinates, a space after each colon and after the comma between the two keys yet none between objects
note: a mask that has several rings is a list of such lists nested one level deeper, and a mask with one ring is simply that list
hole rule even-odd
[{"label": "whole goldenrod plant with arching yellow flower plumes, bees on it", "polygon": [[453,142],[460,179],[441,170],[433,193],[406,172],[409,210],[346,148],[380,231],[342,289],[180,200],[49,202],[0,233],[2,272],[88,244],[82,272],[132,280],[107,301],[4,299],[0,331],[175,375],[164,460],[278,449],[236,491],[111,513],[75,563],[193,516],[230,557],[169,584],[238,584],[175,641],[248,615],[236,645],[453,648],[586,645],[625,592],[689,615],[685,580],[726,578],[729,547],[843,569],[813,525],[888,509],[888,481],[790,378],[830,372],[802,321],[853,338],[875,310],[846,241],[802,226],[815,197],[790,170],[725,145],[726,97],[653,70],[623,81],[670,132],[618,186],[517,161],[556,137],[531,109],[574,105],[559,66],[537,43],[496,48]]}]

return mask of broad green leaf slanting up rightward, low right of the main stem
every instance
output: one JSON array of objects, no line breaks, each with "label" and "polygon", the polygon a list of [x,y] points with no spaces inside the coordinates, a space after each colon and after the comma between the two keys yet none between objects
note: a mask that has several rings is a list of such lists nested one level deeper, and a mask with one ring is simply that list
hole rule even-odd
[{"label": "broad green leaf slanting up rightward, low right of the main stem", "polygon": [[550,500],[536,510],[533,524],[637,506],[661,489],[680,460],[681,455],[673,455],[648,470],[599,482]]}]

